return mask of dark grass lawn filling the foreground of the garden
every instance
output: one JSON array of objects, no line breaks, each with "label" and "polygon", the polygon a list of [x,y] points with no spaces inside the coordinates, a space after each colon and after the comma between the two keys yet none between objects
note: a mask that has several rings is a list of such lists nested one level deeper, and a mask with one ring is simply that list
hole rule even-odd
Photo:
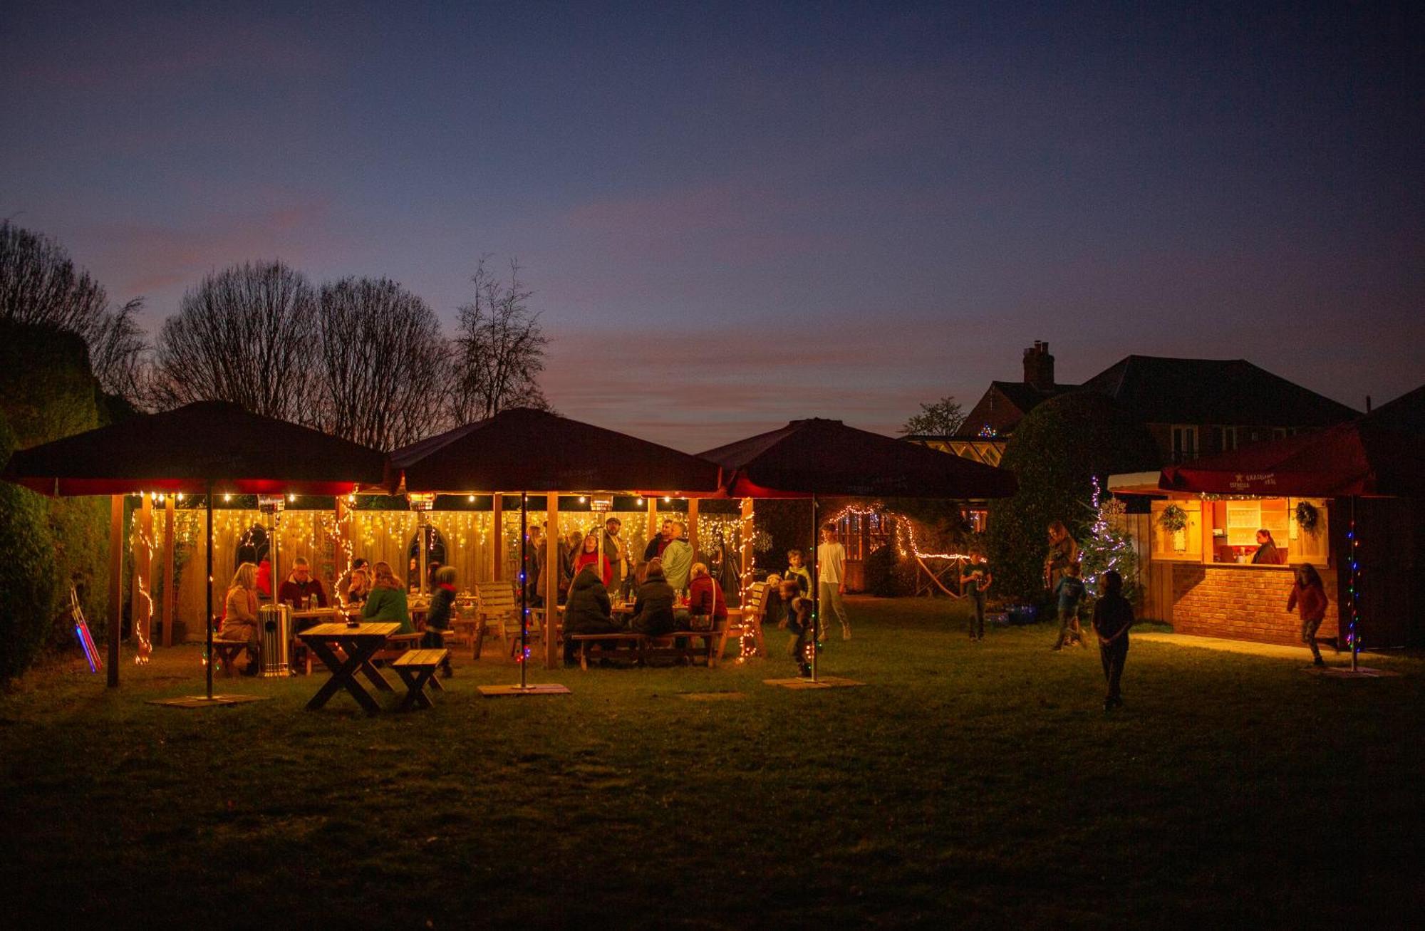
[{"label": "dark grass lawn filling the foreground of the garden", "polygon": [[[855,601],[792,692],[771,659],[537,670],[573,695],[368,719],[316,683],[177,710],[194,648],[0,696],[0,895],[27,927],[1402,924],[1425,894],[1425,663],[1134,643],[1127,708],[1047,626]],[[836,633],[835,636],[839,636]],[[1305,653],[1302,653],[1305,656]],[[1328,653],[1330,656],[1330,653]],[[690,692],[740,696],[691,700]],[[388,699],[389,700],[389,699]]]}]

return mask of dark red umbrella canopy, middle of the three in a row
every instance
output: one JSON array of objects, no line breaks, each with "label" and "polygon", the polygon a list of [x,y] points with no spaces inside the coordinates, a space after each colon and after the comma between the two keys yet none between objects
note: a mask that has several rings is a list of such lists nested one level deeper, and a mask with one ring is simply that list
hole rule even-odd
[{"label": "dark red umbrella canopy, middle of the three in a row", "polygon": [[636,491],[711,497],[721,474],[687,453],[530,407],[502,410],[390,454],[406,491]]}]

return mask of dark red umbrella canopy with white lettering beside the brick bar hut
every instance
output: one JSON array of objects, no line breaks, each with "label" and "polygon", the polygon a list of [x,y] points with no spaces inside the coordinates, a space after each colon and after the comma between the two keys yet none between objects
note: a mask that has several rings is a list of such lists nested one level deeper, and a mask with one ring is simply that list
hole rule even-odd
[{"label": "dark red umbrella canopy with white lettering beside the brick bar hut", "polygon": [[[1382,409],[1384,410],[1384,409]],[[1425,436],[1369,416],[1183,466],[1159,487],[1200,494],[1422,495]]]}]

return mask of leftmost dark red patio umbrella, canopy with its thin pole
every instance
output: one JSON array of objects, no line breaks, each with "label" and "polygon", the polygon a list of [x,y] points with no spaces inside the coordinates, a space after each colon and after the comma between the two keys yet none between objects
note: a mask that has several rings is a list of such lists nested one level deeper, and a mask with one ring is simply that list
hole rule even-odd
[{"label": "leftmost dark red patio umbrella, canopy with its thin pole", "polygon": [[[208,699],[212,699],[212,495],[348,494],[379,485],[382,454],[227,401],[197,401],[17,451],[3,478],[48,495],[164,491],[208,501]],[[110,685],[118,685],[118,626]]]}]

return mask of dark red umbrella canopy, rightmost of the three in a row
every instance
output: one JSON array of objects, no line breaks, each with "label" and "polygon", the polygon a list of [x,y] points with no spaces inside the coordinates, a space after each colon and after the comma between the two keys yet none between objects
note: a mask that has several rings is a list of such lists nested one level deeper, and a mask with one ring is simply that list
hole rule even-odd
[{"label": "dark red umbrella canopy, rightmost of the three in a row", "polygon": [[839,420],[794,420],[700,456],[732,474],[728,494],[738,498],[1006,498],[1019,487],[1007,470]]}]

